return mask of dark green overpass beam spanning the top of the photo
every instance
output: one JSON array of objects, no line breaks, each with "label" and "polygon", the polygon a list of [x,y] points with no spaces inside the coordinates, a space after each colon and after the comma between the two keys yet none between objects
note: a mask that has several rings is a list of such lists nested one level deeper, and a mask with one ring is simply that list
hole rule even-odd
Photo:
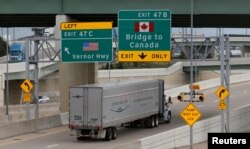
[{"label": "dark green overpass beam spanning the top of the photo", "polygon": [[[249,0],[194,0],[194,27],[250,27],[249,6]],[[54,26],[58,14],[116,26],[119,10],[170,9],[173,27],[189,27],[190,8],[190,0],[2,0],[0,26]]]}]

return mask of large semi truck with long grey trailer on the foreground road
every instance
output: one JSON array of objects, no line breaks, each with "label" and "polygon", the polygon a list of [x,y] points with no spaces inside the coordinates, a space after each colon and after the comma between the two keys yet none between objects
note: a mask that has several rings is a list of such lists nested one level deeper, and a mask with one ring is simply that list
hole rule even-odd
[{"label": "large semi truck with long grey trailer on the foreground road", "polygon": [[69,128],[78,140],[110,141],[118,127],[154,128],[171,120],[163,80],[71,86],[69,92]]}]

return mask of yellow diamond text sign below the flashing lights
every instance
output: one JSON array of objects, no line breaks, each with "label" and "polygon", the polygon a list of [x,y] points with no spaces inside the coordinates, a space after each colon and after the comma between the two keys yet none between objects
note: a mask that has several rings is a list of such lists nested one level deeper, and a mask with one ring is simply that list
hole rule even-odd
[{"label": "yellow diamond text sign below the flashing lights", "polygon": [[187,107],[180,113],[181,117],[192,126],[200,117],[200,111],[195,107],[193,103],[187,105]]}]

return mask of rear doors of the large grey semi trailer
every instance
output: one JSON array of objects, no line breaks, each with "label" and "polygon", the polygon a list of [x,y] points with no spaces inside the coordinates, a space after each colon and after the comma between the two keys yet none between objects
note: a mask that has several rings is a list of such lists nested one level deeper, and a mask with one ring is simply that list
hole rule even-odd
[{"label": "rear doors of the large grey semi trailer", "polygon": [[81,128],[101,127],[101,98],[101,88],[70,88],[70,124]]}]

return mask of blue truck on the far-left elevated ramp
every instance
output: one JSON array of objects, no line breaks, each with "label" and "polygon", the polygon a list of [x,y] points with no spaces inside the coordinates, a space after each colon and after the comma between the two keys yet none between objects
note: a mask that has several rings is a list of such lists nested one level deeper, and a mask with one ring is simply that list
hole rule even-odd
[{"label": "blue truck on the far-left elevated ramp", "polygon": [[25,60],[25,44],[12,43],[10,45],[8,61],[9,62],[22,62]]}]

